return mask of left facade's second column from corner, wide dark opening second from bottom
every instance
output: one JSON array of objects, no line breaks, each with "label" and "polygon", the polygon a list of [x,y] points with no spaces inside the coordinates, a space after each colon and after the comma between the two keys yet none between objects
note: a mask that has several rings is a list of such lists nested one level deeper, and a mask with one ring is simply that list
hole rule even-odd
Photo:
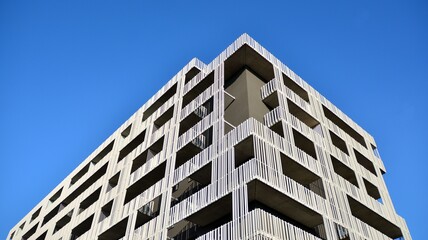
[{"label": "left facade's second column from corner, wide dark opening second from bottom", "polygon": [[152,169],[149,173],[143,176],[140,180],[128,187],[125,195],[124,204],[130,202],[132,199],[143,193],[149,187],[154,185],[165,177],[166,161]]}]

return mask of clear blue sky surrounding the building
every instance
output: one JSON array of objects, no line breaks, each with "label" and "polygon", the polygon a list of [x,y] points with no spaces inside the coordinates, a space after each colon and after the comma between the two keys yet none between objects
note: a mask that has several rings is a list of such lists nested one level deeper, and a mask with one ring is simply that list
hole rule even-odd
[{"label": "clear blue sky surrounding the building", "polygon": [[189,60],[247,32],[376,139],[428,214],[426,1],[0,1],[0,239]]}]

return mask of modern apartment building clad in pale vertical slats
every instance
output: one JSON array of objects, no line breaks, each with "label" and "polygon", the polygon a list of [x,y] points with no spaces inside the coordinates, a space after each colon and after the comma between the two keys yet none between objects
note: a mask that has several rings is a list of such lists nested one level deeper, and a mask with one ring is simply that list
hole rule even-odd
[{"label": "modern apartment building clad in pale vertical slats", "polygon": [[247,34],[190,61],[8,239],[405,239],[369,133]]}]

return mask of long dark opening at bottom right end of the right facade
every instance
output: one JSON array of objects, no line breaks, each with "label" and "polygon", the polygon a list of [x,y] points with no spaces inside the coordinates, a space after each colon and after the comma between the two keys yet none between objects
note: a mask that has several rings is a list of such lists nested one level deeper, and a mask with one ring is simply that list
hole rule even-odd
[{"label": "long dark opening at bottom right end of the right facade", "polygon": [[392,239],[403,236],[400,228],[397,227],[395,224],[386,220],[384,217],[372,211],[370,208],[364,206],[364,204],[361,204],[349,195],[347,197],[349,206],[351,207],[351,213],[356,218],[367,223],[374,229],[377,229],[379,232],[382,232],[383,234],[387,235]]}]

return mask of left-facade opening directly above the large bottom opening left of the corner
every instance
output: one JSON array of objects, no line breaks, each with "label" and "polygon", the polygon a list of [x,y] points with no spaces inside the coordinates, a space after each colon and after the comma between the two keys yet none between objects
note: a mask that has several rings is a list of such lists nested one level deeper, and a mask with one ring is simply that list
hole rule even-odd
[{"label": "left-facade opening directly above the large bottom opening left of the corner", "polygon": [[211,183],[211,171],[212,163],[210,162],[173,186],[171,206],[175,206],[177,203],[208,186]]}]

